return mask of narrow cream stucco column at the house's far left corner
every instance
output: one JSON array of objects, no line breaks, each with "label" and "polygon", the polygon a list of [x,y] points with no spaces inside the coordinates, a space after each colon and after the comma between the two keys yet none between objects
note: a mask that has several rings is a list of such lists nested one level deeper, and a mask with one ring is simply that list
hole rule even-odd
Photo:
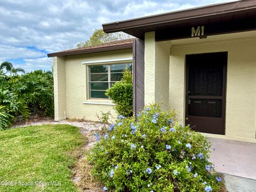
[{"label": "narrow cream stucco column at the house's far left corner", "polygon": [[61,121],[66,113],[66,64],[65,58],[53,58],[54,120]]}]

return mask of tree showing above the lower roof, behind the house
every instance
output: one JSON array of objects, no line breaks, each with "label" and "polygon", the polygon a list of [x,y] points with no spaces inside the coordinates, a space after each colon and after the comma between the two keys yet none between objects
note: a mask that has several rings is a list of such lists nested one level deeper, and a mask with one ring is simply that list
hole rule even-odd
[{"label": "tree showing above the lower roof, behind the house", "polygon": [[89,40],[78,43],[76,46],[77,48],[81,48],[86,46],[99,45],[102,43],[115,42],[122,39],[129,39],[132,37],[133,36],[123,32],[107,34],[102,29],[95,29]]}]

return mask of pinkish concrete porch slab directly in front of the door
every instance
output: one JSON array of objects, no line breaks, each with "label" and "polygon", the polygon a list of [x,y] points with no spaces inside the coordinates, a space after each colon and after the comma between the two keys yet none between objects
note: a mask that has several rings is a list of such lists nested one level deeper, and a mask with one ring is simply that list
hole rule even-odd
[{"label": "pinkish concrete porch slab directly in front of the door", "polygon": [[217,172],[256,180],[256,143],[215,138],[208,140],[215,148],[210,161]]}]

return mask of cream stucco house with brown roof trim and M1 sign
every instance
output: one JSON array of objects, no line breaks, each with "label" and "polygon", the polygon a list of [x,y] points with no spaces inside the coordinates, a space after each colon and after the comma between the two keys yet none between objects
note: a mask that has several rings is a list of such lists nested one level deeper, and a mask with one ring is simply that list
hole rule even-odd
[{"label": "cream stucco house with brown roof trim and M1 sign", "polygon": [[103,94],[111,67],[132,63],[134,111],[163,102],[208,137],[256,142],[255,20],[256,1],[246,0],[103,24],[136,39],[49,54],[55,119],[114,113]]}]

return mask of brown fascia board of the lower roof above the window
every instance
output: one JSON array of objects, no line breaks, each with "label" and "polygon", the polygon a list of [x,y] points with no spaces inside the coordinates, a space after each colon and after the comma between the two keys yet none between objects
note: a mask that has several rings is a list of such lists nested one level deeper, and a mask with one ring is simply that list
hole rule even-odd
[{"label": "brown fascia board of the lower roof above the window", "polygon": [[68,51],[61,51],[56,53],[49,53],[47,54],[48,57],[59,57],[59,56],[67,56],[67,55],[77,55],[77,54],[84,54],[84,53],[97,53],[97,52],[105,52],[105,51],[114,51],[114,50],[122,50],[122,49],[130,49],[132,48],[132,42],[120,45],[110,45],[105,47],[94,47],[91,49],[81,49],[81,50],[68,50]]}]

